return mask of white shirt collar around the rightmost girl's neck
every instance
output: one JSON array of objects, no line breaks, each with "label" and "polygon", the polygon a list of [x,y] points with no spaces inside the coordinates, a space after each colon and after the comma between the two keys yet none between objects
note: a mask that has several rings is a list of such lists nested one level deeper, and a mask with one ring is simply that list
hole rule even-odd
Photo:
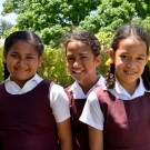
[{"label": "white shirt collar around the rightmost girl's neck", "polygon": [[106,86],[103,88],[104,90],[110,91],[114,97],[122,99],[122,100],[131,100],[137,97],[143,96],[144,92],[150,92],[146,89],[142,78],[139,78],[139,86],[137,87],[134,93],[130,96],[127,90],[119,83],[119,81],[116,79],[116,84],[113,89],[108,89]]}]

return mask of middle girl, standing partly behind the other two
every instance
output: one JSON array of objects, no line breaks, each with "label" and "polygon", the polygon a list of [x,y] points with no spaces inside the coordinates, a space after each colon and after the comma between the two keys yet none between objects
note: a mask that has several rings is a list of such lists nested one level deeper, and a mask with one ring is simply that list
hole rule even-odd
[{"label": "middle girl, standing partly behind the other two", "polygon": [[88,126],[79,121],[89,92],[104,82],[96,69],[100,64],[100,43],[93,33],[76,31],[66,41],[67,69],[76,80],[66,90],[70,97],[74,150],[89,150]]}]

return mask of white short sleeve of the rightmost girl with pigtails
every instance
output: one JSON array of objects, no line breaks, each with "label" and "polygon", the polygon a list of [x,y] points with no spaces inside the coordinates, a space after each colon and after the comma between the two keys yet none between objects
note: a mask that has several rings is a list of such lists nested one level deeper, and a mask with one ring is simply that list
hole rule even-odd
[{"label": "white short sleeve of the rightmost girl with pigtails", "polygon": [[98,130],[103,130],[103,113],[100,109],[97,94],[93,91],[91,91],[88,96],[87,102],[79,120]]}]

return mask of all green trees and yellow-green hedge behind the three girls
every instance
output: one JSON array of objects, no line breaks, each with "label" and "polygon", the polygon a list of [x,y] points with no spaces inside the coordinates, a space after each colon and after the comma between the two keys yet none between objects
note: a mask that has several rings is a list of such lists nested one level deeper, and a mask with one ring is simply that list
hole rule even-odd
[{"label": "all green trees and yellow-green hedge behind the three girls", "polygon": [[121,24],[136,23],[150,33],[149,0],[6,0],[2,14],[11,12],[18,16],[17,24],[6,29],[2,38],[18,30],[38,33],[46,44],[46,58],[38,73],[64,87],[72,82],[64,69],[64,52],[61,49],[66,33],[89,30],[99,38],[103,58],[98,69],[101,74],[107,70],[107,50]]}]

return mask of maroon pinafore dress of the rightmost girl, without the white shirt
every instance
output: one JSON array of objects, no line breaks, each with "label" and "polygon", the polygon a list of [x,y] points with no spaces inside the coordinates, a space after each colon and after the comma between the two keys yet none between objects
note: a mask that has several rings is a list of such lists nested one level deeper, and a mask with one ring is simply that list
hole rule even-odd
[{"label": "maroon pinafore dress of the rightmost girl, without the white shirt", "polygon": [[104,150],[150,150],[150,92],[121,100],[102,87],[93,91],[104,116]]}]

